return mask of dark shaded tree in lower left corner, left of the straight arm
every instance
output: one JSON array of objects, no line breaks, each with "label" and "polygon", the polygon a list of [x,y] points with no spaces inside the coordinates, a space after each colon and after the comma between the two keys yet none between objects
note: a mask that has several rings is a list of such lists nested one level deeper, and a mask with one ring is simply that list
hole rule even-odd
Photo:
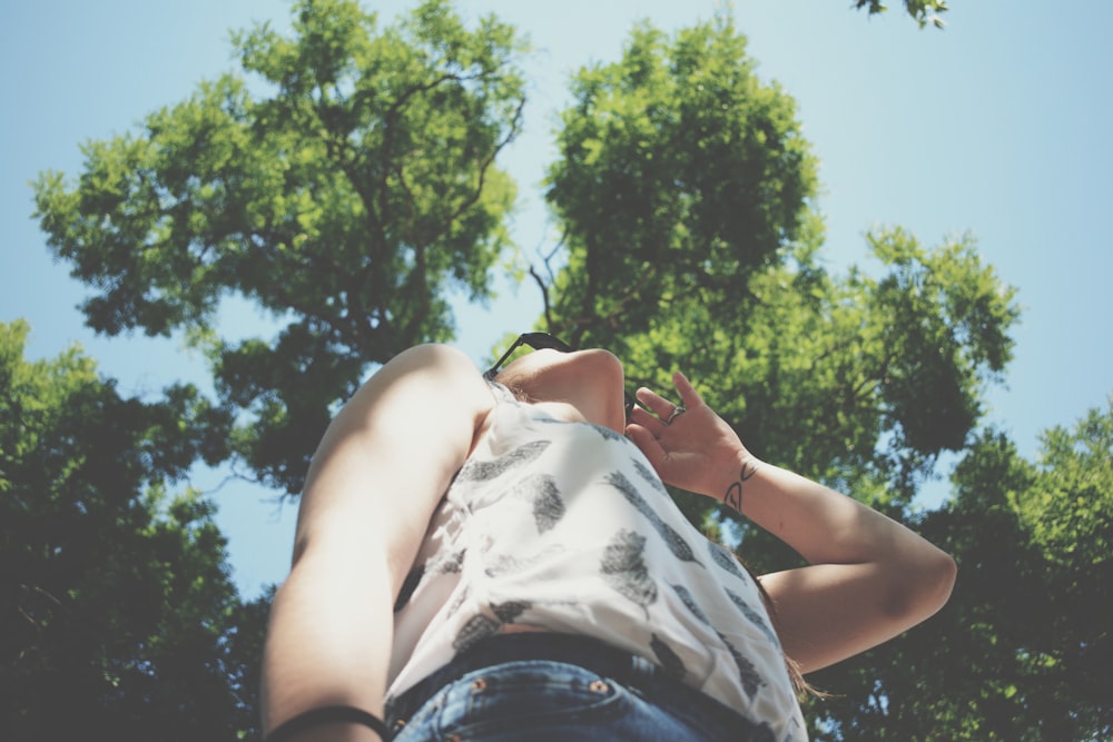
[{"label": "dark shaded tree in lower left corner, left of the straight arm", "polygon": [[27,333],[0,324],[4,739],[252,732],[266,598],[238,601],[211,503],[168,489],[227,421],[191,387],[124,398],[77,349],[28,362]]}]

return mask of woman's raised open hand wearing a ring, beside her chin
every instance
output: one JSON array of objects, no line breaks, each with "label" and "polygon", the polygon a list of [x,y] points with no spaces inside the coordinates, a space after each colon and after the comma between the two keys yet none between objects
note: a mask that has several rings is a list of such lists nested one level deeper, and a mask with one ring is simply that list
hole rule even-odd
[{"label": "woman's raised open hand wearing a ring, beside her chin", "polygon": [[674,373],[672,383],[683,410],[673,415],[676,403],[642,387],[638,402],[644,408],[634,407],[627,436],[666,484],[716,499],[728,498],[757,462],[683,374]]}]

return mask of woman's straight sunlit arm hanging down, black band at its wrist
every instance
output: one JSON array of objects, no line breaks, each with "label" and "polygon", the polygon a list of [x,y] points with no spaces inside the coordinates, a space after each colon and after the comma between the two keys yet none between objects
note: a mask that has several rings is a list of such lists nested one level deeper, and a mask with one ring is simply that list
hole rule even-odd
[{"label": "woman's straight sunlit arm hanging down, black band at its wrist", "polygon": [[[329,705],[382,716],[395,597],[492,404],[466,356],[418,346],[380,369],[329,425],[302,494],[293,566],[270,613],[265,731]],[[326,734],[376,739],[345,724],[302,739]]]}]

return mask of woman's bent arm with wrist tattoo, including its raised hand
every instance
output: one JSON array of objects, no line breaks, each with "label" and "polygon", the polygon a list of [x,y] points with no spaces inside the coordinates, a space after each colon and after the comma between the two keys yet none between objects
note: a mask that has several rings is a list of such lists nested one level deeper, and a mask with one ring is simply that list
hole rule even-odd
[{"label": "woman's bent arm with wrist tattoo, including its raised hand", "polygon": [[885,642],[947,601],[955,563],[861,503],[755,458],[681,374],[688,412],[649,389],[628,428],[667,483],[725,502],[811,566],[765,575],[785,653],[811,672]]}]

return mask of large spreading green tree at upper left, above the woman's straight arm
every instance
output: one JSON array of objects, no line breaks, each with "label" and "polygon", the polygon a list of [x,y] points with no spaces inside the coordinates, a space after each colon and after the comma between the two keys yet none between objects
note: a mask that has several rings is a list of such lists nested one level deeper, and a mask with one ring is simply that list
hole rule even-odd
[{"label": "large spreading green tree at upper left, above the woman's straight arm", "polygon": [[[76,184],[39,178],[37,215],[95,289],[89,325],[207,347],[221,400],[248,413],[233,452],[295,493],[368,366],[449,339],[453,291],[490,296],[524,47],[442,0],[383,29],[348,0],[298,2],[290,38],[263,24],[235,44],[254,85],[226,75],[140,133],[87,144]],[[233,295],[285,323],[275,342],[215,334]]]}]

